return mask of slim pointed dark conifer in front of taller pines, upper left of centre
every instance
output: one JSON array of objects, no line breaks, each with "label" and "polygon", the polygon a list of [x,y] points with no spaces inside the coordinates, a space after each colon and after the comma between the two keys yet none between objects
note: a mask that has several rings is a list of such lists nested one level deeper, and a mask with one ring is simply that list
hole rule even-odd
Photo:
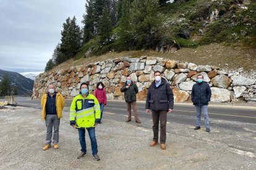
[{"label": "slim pointed dark conifer in front of taller pines, upper left of centre", "polygon": [[98,29],[98,36],[100,39],[100,44],[108,44],[111,41],[111,31],[112,31],[112,24],[111,24],[111,15],[106,6],[103,9],[103,14],[100,18],[99,22],[99,29]]}]

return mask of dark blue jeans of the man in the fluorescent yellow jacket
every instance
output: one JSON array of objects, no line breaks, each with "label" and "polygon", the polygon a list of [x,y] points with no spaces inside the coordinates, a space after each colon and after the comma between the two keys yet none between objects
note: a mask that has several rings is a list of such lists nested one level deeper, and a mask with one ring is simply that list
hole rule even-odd
[{"label": "dark blue jeans of the man in the fluorescent yellow jacket", "polygon": [[[86,143],[85,143],[85,129],[78,129],[79,131],[79,141],[81,145],[81,151],[82,152],[87,152],[86,149]],[[87,129],[90,140],[91,140],[91,146],[92,146],[92,154],[97,154],[98,153],[98,145],[97,145],[97,140],[95,136],[95,127]]]}]

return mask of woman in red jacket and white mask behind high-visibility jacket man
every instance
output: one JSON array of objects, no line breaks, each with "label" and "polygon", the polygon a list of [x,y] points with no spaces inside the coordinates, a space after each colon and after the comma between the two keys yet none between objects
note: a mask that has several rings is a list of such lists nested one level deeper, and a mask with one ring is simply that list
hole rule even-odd
[{"label": "woman in red jacket and white mask behind high-visibility jacket man", "polygon": [[96,85],[96,90],[94,91],[94,95],[95,97],[98,99],[99,103],[100,103],[100,123],[101,123],[101,119],[102,119],[102,115],[103,115],[103,108],[104,105],[106,105],[106,91],[104,89],[104,84],[102,82],[99,82]]}]

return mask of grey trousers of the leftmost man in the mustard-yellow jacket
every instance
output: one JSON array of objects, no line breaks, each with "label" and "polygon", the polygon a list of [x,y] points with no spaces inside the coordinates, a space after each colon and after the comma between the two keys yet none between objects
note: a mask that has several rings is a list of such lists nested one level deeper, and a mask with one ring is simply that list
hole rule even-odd
[{"label": "grey trousers of the leftmost man in the mustard-yellow jacket", "polygon": [[45,126],[46,126],[46,139],[45,144],[51,144],[51,137],[53,137],[53,144],[59,143],[59,123],[61,119],[57,115],[46,115]]}]

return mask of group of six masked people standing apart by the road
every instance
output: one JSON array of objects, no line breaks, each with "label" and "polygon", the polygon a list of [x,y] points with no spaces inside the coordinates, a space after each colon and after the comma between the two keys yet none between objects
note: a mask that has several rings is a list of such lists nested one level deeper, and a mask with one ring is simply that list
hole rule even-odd
[{"label": "group of six masked people standing apart by the road", "polygon": [[[148,88],[146,99],[146,113],[152,115],[153,120],[153,140],[150,142],[150,147],[158,145],[158,132],[160,123],[160,148],[166,149],[166,121],[167,113],[171,113],[174,107],[173,90],[168,81],[161,76],[160,71],[154,73],[155,81],[153,81]],[[136,123],[141,123],[138,113],[136,96],[139,89],[130,77],[127,77],[126,83],[121,88],[124,92],[124,99],[127,103],[126,122],[132,120],[132,111],[134,111],[134,118]],[[203,76],[197,76],[197,83],[192,87],[191,99],[195,105],[197,112],[197,121],[195,130],[200,129],[201,113],[205,118],[206,131],[210,132],[210,124],[208,118],[208,102],[211,98],[211,89],[207,83],[203,82]],[[95,136],[95,127],[101,124],[103,116],[103,108],[107,103],[105,86],[102,82],[96,85],[94,94],[89,93],[89,85],[82,83],[80,85],[79,95],[75,96],[70,105],[70,126],[78,129],[79,141],[81,145],[81,153],[77,157],[83,158],[87,155],[87,147],[85,143],[85,129],[87,129],[90,142],[92,146],[92,155],[96,161],[100,160],[98,156],[98,145]],[[64,97],[55,91],[53,84],[49,84],[48,92],[41,97],[42,113],[41,118],[45,120],[46,124],[46,140],[43,150],[51,148],[51,142],[55,149],[59,148],[59,123],[62,118],[62,109],[64,108]],[[51,139],[53,138],[53,141]]]}]

